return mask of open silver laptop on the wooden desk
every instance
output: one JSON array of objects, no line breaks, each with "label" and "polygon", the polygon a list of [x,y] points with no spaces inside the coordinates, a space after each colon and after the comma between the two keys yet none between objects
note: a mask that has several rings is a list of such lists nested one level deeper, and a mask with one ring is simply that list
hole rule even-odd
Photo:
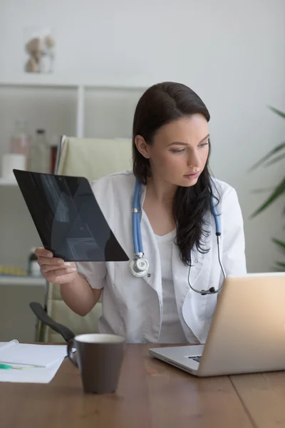
[{"label": "open silver laptop on the wooden desk", "polygon": [[285,272],[227,277],[204,345],[149,352],[199,377],[285,370]]}]

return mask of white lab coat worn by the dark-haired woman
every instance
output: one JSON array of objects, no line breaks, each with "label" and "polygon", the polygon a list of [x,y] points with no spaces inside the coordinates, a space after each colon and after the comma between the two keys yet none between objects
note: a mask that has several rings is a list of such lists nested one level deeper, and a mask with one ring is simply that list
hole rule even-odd
[{"label": "white lab coat worn by the dark-haired woman", "polygon": [[[244,275],[244,230],[237,193],[220,180],[216,180],[220,195],[219,222],[222,228],[222,263],[227,275]],[[133,194],[135,176],[131,171],[105,176],[92,183],[95,198],[115,237],[130,260],[133,259]],[[145,198],[141,186],[140,206]],[[214,218],[208,213],[206,242],[209,252],[192,250],[192,285],[200,290],[219,287],[223,276],[217,255],[217,237]],[[127,342],[157,342],[162,324],[162,280],[160,253],[147,217],[141,223],[142,245],[150,267],[145,277],[130,273],[130,262],[77,263],[78,272],[93,288],[103,288],[103,315],[99,331],[123,335]],[[189,267],[180,260],[180,252],[173,243],[172,275],[177,310],[185,337],[190,343],[204,343],[217,303],[217,294],[200,295],[188,285]]]}]

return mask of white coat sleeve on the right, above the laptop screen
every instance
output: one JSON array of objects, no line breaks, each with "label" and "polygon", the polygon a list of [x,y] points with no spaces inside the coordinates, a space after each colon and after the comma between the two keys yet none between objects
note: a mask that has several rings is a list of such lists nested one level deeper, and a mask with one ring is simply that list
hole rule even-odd
[{"label": "white coat sleeve on the right, above the laptop screen", "polygon": [[234,188],[230,188],[224,195],[222,218],[222,263],[226,275],[245,275],[247,264],[244,252],[244,221]]}]

